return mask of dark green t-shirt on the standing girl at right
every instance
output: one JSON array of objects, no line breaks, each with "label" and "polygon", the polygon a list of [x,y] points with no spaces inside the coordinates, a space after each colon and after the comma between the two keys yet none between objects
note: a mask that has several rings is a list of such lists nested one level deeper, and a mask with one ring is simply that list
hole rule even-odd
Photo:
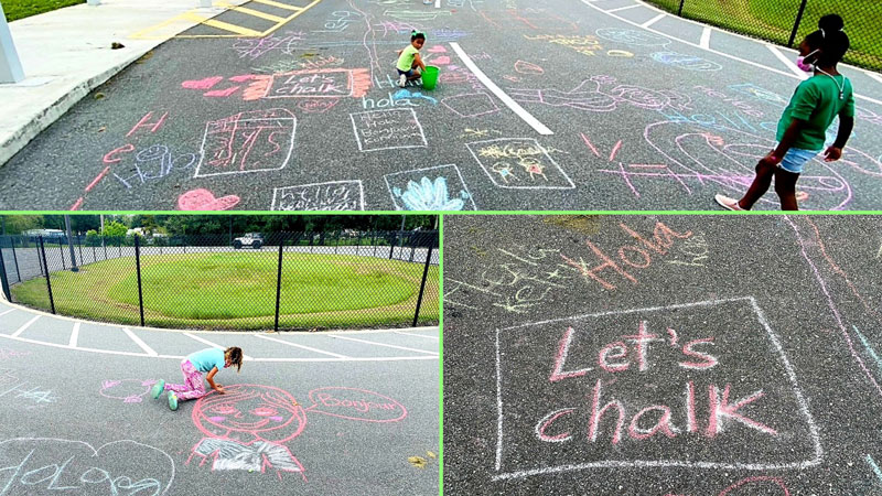
[{"label": "dark green t-shirt on the standing girl at right", "polygon": [[[833,82],[833,77],[836,82]],[[842,98],[839,98],[839,86],[842,85]],[[808,122],[793,148],[802,150],[824,150],[827,128],[830,127],[836,116],[854,117],[854,94],[851,91],[851,82],[846,76],[828,76],[817,74],[799,83],[793,93],[789,105],[784,109],[784,115],[778,121],[777,140],[784,138],[784,132],[794,119]]]}]

